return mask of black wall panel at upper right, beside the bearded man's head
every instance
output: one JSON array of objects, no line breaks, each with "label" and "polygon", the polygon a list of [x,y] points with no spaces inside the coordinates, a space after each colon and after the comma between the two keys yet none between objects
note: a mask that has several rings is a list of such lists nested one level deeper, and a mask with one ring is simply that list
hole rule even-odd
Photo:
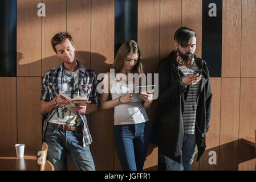
[{"label": "black wall panel at upper right, beside the bearded man's head", "polygon": [[202,59],[211,77],[221,77],[222,0],[202,1]]}]

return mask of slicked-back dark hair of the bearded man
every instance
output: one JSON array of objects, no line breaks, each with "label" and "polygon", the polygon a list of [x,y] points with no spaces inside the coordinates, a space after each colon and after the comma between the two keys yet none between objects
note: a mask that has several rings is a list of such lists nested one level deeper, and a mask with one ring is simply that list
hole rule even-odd
[{"label": "slicked-back dark hair of the bearded man", "polygon": [[174,34],[174,40],[177,43],[186,44],[189,42],[189,39],[193,36],[197,36],[196,32],[188,27],[180,27]]}]

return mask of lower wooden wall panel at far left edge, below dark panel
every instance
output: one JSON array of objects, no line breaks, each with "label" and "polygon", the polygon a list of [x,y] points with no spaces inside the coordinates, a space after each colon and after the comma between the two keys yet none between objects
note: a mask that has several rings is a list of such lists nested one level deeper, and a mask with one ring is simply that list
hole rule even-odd
[{"label": "lower wooden wall panel at far left edge, below dark panel", "polygon": [[0,151],[14,150],[17,143],[17,78],[0,77]]}]

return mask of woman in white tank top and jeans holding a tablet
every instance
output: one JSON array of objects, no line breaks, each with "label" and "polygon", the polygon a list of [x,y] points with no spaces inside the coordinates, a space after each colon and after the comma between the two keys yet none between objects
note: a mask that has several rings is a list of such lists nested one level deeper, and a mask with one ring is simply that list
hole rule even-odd
[{"label": "woman in white tank top and jeans holding a tablet", "polygon": [[[139,93],[137,96],[141,101],[133,102],[135,81],[133,78],[129,80],[128,74],[143,73],[140,49],[135,41],[128,40],[121,45],[111,68],[104,76],[100,109],[114,107],[115,147],[123,170],[141,171],[151,138],[146,110],[152,104],[153,93]],[[109,93],[112,96],[110,101]]]}]

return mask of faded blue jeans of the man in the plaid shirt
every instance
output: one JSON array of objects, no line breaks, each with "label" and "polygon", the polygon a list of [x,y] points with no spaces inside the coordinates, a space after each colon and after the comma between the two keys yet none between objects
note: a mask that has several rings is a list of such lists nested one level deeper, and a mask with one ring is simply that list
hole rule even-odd
[{"label": "faded blue jeans of the man in the plaid shirt", "polygon": [[67,170],[67,154],[76,171],[95,171],[90,147],[83,147],[83,132],[63,131],[48,125],[45,142],[48,144],[47,160],[56,171]]}]

